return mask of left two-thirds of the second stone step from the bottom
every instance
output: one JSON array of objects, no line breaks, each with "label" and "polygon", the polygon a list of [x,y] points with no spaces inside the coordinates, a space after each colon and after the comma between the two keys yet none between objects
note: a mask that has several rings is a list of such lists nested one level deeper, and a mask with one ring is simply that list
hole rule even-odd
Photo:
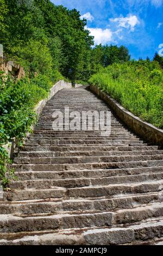
[{"label": "left two-thirds of the second stone step from the bottom", "polygon": [[0,233],[21,231],[57,230],[68,228],[103,227],[111,225],[111,212],[92,214],[55,214],[49,216],[21,217],[1,215]]}]

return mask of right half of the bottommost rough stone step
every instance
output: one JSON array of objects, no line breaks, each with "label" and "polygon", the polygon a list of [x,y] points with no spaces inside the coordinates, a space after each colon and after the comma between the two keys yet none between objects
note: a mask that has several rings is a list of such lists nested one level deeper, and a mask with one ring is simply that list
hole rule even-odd
[{"label": "right half of the bottommost rough stone step", "polygon": [[153,218],[153,221],[128,225],[128,227],[95,229],[94,231],[90,229],[85,231],[83,236],[87,245],[121,245],[134,244],[136,241],[141,244],[148,239],[161,237],[162,233],[163,221],[160,218],[158,220]]}]

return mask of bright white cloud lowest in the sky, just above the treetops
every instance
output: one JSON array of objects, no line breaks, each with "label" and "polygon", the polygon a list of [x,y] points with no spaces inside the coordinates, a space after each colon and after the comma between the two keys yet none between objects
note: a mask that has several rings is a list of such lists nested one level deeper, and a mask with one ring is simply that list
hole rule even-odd
[{"label": "bright white cloud lowest in the sky, just above the treetops", "polygon": [[112,39],[112,31],[109,28],[86,28],[90,31],[90,34],[93,35],[94,41],[95,41],[95,45],[99,45],[99,44],[108,44],[109,42],[111,42]]}]

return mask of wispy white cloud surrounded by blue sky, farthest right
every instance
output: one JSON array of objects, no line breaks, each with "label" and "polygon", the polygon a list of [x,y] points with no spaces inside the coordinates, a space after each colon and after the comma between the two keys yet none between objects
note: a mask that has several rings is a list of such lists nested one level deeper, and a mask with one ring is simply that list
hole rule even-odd
[{"label": "wispy white cloud surrounded by blue sky, farthest right", "polygon": [[110,19],[111,22],[116,22],[118,27],[129,28],[130,31],[135,30],[135,26],[139,25],[140,21],[137,19],[136,15],[129,14],[127,17],[118,17],[115,19]]}]

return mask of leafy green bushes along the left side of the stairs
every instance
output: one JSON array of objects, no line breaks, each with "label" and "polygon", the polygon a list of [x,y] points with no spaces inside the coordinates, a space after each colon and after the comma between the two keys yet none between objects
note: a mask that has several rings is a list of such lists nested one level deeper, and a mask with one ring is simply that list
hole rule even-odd
[{"label": "leafy green bushes along the left side of the stairs", "polygon": [[35,123],[35,105],[46,98],[53,81],[59,80],[59,72],[53,72],[51,78],[45,75],[38,75],[29,80],[23,78],[16,83],[8,77],[3,82],[3,73],[0,74],[0,179],[3,186],[7,186],[13,171],[9,169],[9,157],[7,151],[2,147],[16,138],[18,145],[27,131]]}]

